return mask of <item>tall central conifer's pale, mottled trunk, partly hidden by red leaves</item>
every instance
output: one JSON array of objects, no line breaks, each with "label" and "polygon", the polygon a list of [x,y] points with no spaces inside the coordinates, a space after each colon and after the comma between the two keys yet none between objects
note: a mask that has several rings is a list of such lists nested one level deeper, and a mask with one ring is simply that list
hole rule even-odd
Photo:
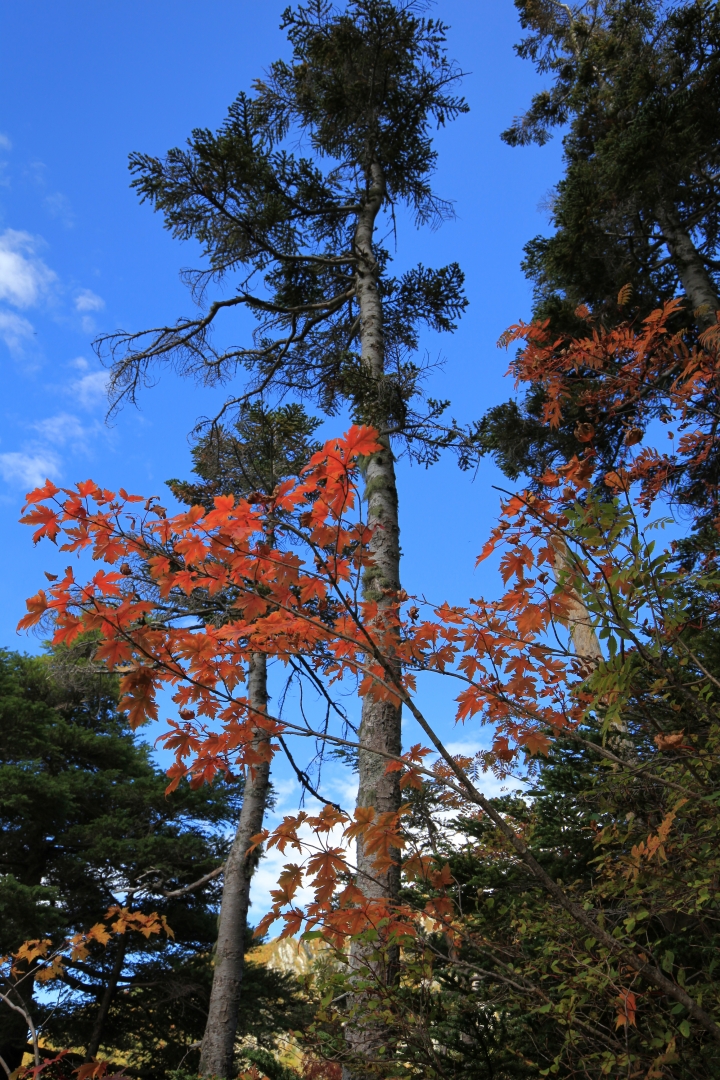
[{"label": "tall central conifer's pale, mottled trunk, partly hidden by red leaves", "polygon": [[[358,215],[355,229],[355,254],[358,259],[356,282],[361,314],[362,362],[366,374],[379,386],[385,373],[385,347],[373,231],[378,212],[384,200],[385,187],[381,168],[377,163],[370,168],[369,179],[367,200]],[[382,616],[383,608],[394,603],[399,590],[400,545],[395,461],[390,437],[383,435],[380,442],[383,449],[372,455],[365,468],[367,521],[369,525],[376,527],[370,544],[373,566],[367,572],[365,589],[366,595],[378,602]],[[399,705],[365,698],[359,729],[361,743],[389,754],[399,754],[400,719]],[[385,773],[383,758],[368,751],[361,751],[358,771],[358,807],[373,807],[378,815],[399,809],[398,774]],[[399,858],[399,852],[397,855]],[[367,896],[397,899],[399,866],[378,872],[373,866],[372,856],[364,849],[362,838],[357,842],[356,864],[357,883]],[[371,953],[372,946],[361,943],[353,945],[351,969],[355,978],[367,980],[378,988],[390,986],[396,976],[396,962],[392,953],[382,960],[373,960]],[[358,1058],[367,1062],[377,1061],[379,1052],[388,1041],[384,1027],[363,1016],[364,999],[365,995],[357,993],[351,1000],[353,1016],[347,1026],[345,1038],[353,1065],[343,1070],[345,1078],[361,1075],[356,1071],[355,1064]]]}]

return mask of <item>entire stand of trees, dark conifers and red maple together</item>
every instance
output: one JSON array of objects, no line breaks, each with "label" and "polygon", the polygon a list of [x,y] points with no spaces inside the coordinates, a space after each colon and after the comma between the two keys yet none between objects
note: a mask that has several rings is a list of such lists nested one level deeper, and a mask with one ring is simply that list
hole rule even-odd
[{"label": "entire stand of trees, dark conifers and red maple together", "polygon": [[[434,12],[288,8],[217,131],[131,154],[202,254],[192,316],[98,340],[110,403],[162,365],[227,395],[167,505],[26,497],[65,563],[19,622],[45,651],[0,653],[13,1080],[718,1075],[718,6],[515,6],[543,89],[498,137],[521,167],[557,130],[562,175],[515,395],[467,427],[419,355],[463,271],[385,246],[452,214]],[[397,468],[449,453],[468,499],[505,475],[492,591],[452,603],[430,544],[409,591]]]}]

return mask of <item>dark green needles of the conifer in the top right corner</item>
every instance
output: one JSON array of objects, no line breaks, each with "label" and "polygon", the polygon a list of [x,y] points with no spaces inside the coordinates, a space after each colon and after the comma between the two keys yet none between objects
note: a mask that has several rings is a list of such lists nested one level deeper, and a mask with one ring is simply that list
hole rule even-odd
[{"label": "dark green needles of the conifer in the top right corner", "polygon": [[[638,320],[684,293],[676,316],[692,337],[714,321],[720,282],[720,9],[711,0],[516,0],[518,54],[552,82],[504,133],[543,144],[565,127],[565,173],[549,200],[554,232],[526,246],[533,316],[584,337],[575,310],[606,325]],[[622,306],[624,286],[631,296]],[[582,392],[582,380],[578,393]],[[536,391],[486,414],[481,453],[507,475],[538,475],[582,447],[582,410],[568,400],[559,430],[538,419]],[[598,423],[598,419],[600,423]],[[622,438],[593,418],[606,468]]]}]

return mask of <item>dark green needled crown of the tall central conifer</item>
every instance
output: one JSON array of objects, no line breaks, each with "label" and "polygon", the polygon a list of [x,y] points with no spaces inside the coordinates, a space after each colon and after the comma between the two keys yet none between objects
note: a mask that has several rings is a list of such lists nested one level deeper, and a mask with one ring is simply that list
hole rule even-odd
[{"label": "dark green needled crown of the tall central conifer", "polygon": [[[174,235],[202,245],[208,269],[188,275],[195,298],[205,302],[213,283],[230,275],[234,285],[196,318],[100,342],[114,360],[118,400],[134,399],[161,360],[208,382],[245,368],[250,393],[291,391],[329,414],[349,404],[357,420],[390,426],[423,459],[452,441],[437,423],[445,403],[412,413],[423,373],[409,354],[423,324],[452,330],[462,314],[456,264],[391,276],[388,251],[375,246],[383,373],[371,375],[359,355],[357,227],[378,176],[389,229],[397,203],[419,225],[451,213],[431,184],[431,126],[466,106],[452,93],[458,72],[445,54],[445,27],[421,9],[390,0],[288,9],[291,60],[271,65],[253,96],[242,93],[218,132],[196,130],[164,159],[131,157],[140,198]],[[309,157],[288,149],[298,137]],[[239,306],[255,316],[253,340],[216,345],[218,316]]]}]

